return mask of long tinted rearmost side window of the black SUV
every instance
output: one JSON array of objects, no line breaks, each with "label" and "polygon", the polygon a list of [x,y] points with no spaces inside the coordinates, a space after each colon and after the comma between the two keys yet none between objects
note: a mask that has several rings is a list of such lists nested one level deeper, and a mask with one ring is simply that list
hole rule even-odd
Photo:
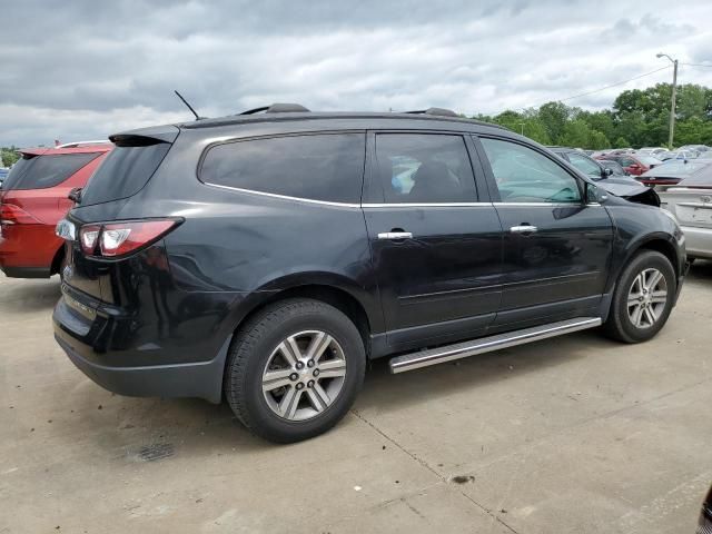
[{"label": "long tinted rearmost side window of the black SUV", "polygon": [[212,147],[200,170],[207,184],[289,197],[358,202],[364,134],[289,136]]}]

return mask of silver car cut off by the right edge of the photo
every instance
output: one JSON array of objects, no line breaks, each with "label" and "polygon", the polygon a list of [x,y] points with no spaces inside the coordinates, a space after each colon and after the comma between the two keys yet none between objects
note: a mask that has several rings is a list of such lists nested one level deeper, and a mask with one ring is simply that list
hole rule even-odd
[{"label": "silver car cut off by the right edge of the photo", "polygon": [[712,258],[712,165],[660,194],[685,235],[690,258]]}]

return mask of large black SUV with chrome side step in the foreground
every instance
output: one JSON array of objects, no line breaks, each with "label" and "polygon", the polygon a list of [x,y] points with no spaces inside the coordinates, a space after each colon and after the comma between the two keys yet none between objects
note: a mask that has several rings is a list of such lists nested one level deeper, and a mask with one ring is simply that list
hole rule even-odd
[{"label": "large black SUV with chrome side step in the foreground", "polygon": [[554,154],[452,111],[259,113],[111,136],[58,225],[58,343],[95,382],[323,433],[394,373],[603,325],[664,325],[684,238]]}]

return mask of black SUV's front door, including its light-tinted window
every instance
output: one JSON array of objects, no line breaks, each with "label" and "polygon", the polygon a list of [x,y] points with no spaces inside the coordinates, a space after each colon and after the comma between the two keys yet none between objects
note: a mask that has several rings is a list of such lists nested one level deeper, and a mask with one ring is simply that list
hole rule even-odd
[{"label": "black SUV's front door, including its light-tinted window", "polygon": [[583,180],[555,156],[512,139],[479,141],[504,229],[502,305],[493,326],[595,316],[613,243],[606,209],[585,201]]}]

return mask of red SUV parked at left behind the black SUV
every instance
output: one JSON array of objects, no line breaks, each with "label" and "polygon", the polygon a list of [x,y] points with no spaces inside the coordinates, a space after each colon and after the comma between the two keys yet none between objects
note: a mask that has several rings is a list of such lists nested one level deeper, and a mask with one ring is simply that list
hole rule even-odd
[{"label": "red SUV parked at left behind the black SUV", "polygon": [[65,241],[55,227],[72,206],[67,195],[87,184],[112,148],[90,141],[20,150],[0,189],[0,270],[14,278],[60,271]]}]

